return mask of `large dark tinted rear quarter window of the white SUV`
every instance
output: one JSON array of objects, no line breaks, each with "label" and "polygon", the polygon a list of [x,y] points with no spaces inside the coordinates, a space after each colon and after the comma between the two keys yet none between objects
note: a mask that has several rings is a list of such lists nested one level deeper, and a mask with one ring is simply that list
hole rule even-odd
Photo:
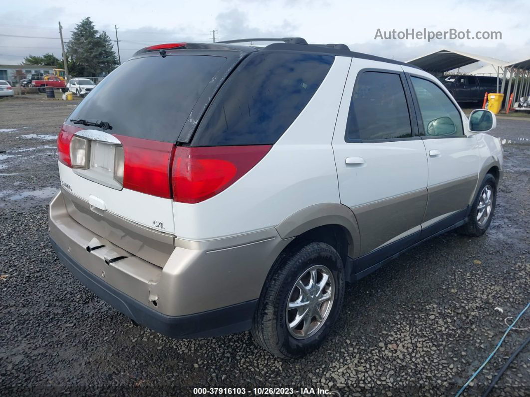
[{"label": "large dark tinted rear quarter window of the white SUV", "polygon": [[310,101],[333,59],[265,51],[249,55],[216,95],[192,145],[275,143]]}]

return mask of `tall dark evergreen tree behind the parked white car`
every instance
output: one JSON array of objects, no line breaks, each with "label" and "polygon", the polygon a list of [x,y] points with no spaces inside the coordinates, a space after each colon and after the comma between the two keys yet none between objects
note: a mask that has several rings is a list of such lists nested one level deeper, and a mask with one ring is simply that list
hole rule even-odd
[{"label": "tall dark evergreen tree behind the parked white car", "polygon": [[107,33],[95,29],[90,17],[76,25],[66,52],[73,67],[69,70],[72,76],[100,76],[118,66],[112,40]]}]

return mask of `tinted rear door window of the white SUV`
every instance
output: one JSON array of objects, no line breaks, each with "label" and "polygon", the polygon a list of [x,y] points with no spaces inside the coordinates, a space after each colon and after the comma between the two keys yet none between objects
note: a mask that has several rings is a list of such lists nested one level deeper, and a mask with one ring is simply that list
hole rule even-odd
[{"label": "tinted rear door window of the white SUV", "polygon": [[351,95],[346,142],[411,137],[409,108],[400,75],[362,73]]}]

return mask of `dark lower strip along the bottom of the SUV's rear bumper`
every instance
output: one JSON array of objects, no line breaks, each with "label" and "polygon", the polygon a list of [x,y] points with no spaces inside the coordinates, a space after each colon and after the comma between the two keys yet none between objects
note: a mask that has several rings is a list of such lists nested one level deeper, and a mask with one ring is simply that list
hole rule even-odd
[{"label": "dark lower strip along the bottom of the SUV's rear bumper", "polygon": [[50,241],[61,262],[85,287],[119,312],[147,328],[172,338],[207,338],[246,331],[252,325],[257,299],[197,314],[168,316],[105,283],[60,248],[51,236]]}]

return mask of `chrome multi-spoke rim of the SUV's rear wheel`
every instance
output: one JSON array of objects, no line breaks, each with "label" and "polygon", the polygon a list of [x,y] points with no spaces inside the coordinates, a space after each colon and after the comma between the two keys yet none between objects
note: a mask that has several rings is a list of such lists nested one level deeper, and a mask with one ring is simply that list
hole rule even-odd
[{"label": "chrome multi-spoke rim of the SUV's rear wheel", "polygon": [[298,277],[289,294],[285,321],[291,336],[306,339],[318,331],[331,312],[335,280],[330,269],[313,266]]}]

